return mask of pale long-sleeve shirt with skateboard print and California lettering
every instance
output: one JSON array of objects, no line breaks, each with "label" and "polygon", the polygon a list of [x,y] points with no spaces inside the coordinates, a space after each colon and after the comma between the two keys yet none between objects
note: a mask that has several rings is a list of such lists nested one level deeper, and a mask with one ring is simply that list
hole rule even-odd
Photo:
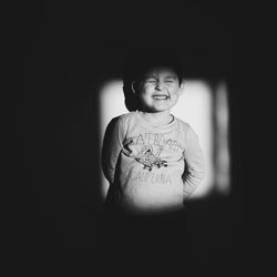
[{"label": "pale long-sleeve shirt with skateboard print and California lettering", "polygon": [[188,123],[174,116],[156,127],[138,111],[110,122],[102,167],[119,205],[135,213],[184,207],[205,173],[203,151]]}]

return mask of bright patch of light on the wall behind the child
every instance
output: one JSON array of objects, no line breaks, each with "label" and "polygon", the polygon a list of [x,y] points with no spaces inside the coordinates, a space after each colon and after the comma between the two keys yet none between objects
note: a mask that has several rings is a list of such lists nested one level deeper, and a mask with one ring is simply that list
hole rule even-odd
[{"label": "bright patch of light on the wall behind the child", "polygon": [[[215,98],[213,98],[215,93]],[[215,103],[213,103],[215,101]],[[215,122],[213,121],[212,109],[216,107]],[[113,80],[105,83],[100,92],[100,141],[103,142],[104,132],[109,122],[129,111],[124,104],[123,83],[120,80]],[[178,119],[189,123],[198,135],[199,143],[205,153],[206,176],[202,184],[196,188],[193,198],[206,196],[213,189],[226,194],[229,191],[229,154],[227,147],[227,129],[228,129],[228,106],[227,106],[227,89],[222,82],[216,91],[202,80],[185,81],[183,93],[177,104],[172,109],[172,113]],[[215,124],[215,125],[214,125]],[[213,133],[219,129],[218,148],[214,143],[215,135]],[[218,142],[218,140],[217,140]],[[100,145],[100,150],[102,145]],[[214,158],[214,153],[216,157]],[[101,174],[101,194],[104,198],[109,188],[102,171]]]}]

